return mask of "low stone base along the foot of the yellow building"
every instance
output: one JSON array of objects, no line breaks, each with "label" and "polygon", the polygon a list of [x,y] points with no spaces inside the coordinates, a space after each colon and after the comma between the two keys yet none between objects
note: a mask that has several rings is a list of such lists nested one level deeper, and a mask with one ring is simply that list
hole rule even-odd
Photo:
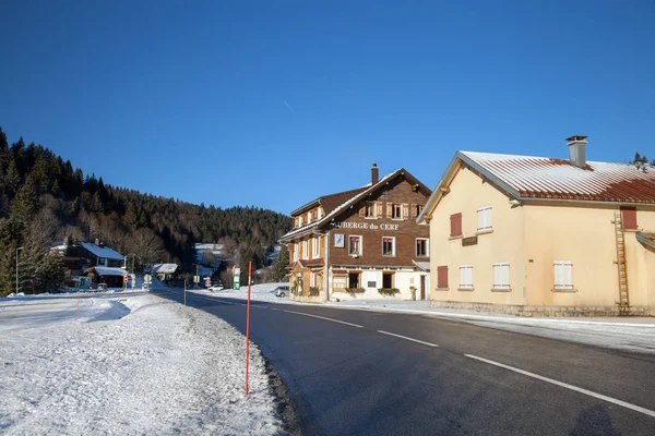
[{"label": "low stone base along the foot of the yellow building", "polygon": [[[466,308],[477,312],[504,313],[516,316],[620,316],[618,305],[614,306],[527,306],[458,301],[431,301],[431,307]],[[651,316],[648,306],[631,306],[628,316]]]}]

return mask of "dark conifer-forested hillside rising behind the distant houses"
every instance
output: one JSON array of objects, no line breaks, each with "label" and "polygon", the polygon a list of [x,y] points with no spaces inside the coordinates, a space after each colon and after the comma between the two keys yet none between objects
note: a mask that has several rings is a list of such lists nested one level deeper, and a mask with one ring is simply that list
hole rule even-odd
[{"label": "dark conifer-forested hillside rising behind the distant houses", "polygon": [[174,262],[191,270],[195,242],[224,244],[239,262],[263,264],[289,229],[285,215],[255,207],[198,206],[115,187],[84,174],[41,145],[8,144],[0,129],[0,295],[15,289],[16,247],[23,247],[21,290],[45,290],[61,280],[48,249],[56,241],[96,238],[140,265]]}]

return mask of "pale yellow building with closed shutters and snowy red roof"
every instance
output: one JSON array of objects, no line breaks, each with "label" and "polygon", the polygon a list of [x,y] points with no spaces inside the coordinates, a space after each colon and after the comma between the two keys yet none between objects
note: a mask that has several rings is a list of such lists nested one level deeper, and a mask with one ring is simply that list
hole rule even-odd
[{"label": "pale yellow building with closed shutters and snowy red roof", "polygon": [[457,152],[417,218],[430,301],[539,316],[655,315],[655,167]]}]

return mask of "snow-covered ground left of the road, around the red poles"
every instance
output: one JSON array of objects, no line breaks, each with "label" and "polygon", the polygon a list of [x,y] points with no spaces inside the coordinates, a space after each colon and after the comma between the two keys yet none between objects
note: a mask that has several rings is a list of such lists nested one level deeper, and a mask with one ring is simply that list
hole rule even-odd
[{"label": "snow-covered ground left of the road, around the red poles", "polygon": [[0,299],[0,434],[283,434],[264,361],[155,295]]}]

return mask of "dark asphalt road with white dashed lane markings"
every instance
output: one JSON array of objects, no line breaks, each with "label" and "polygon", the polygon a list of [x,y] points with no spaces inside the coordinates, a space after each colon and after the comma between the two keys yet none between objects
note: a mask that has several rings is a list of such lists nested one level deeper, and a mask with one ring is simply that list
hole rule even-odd
[{"label": "dark asphalt road with white dashed lane markings", "polygon": [[[187,304],[246,329],[242,300],[187,293]],[[252,303],[250,331],[311,435],[655,435],[651,355],[265,302]]]}]

